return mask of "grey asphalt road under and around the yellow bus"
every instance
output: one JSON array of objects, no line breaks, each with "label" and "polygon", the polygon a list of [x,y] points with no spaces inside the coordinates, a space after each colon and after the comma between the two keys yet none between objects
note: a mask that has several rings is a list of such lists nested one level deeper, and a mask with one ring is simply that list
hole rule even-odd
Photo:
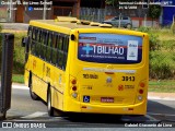
[{"label": "grey asphalt road under and around the yellow bus", "polygon": [[[43,123],[42,128],[152,128],[158,126],[175,128],[175,102],[149,99],[148,114],[144,117],[122,116],[121,119],[109,115],[49,117],[44,102],[32,100],[27,87],[15,86],[12,88],[11,109],[8,110],[4,122]],[[13,127],[18,128],[18,124]]]}]

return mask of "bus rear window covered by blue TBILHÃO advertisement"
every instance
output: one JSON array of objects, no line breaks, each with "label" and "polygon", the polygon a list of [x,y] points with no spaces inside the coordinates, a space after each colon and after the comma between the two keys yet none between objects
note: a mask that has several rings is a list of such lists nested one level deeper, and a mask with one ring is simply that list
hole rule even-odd
[{"label": "bus rear window covered by blue TBILH\u00c3O advertisement", "polygon": [[80,34],[78,59],[97,63],[140,63],[142,37],[118,34]]}]

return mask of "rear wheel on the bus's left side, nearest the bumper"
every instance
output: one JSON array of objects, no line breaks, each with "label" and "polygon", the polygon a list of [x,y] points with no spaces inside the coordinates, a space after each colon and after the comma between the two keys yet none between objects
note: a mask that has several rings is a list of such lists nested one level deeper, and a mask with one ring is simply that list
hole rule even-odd
[{"label": "rear wheel on the bus's left side, nearest the bumper", "polygon": [[50,117],[54,117],[54,107],[51,107],[51,92],[48,90],[47,94],[47,111]]}]

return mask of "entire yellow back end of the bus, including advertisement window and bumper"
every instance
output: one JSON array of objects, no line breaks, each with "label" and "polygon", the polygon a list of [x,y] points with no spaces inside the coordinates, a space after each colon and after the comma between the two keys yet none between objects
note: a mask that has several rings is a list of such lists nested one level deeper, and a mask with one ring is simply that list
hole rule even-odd
[{"label": "entire yellow back end of the bus, including advertisement window and bumper", "polygon": [[65,110],[145,115],[148,36],[79,29],[77,37]]}]

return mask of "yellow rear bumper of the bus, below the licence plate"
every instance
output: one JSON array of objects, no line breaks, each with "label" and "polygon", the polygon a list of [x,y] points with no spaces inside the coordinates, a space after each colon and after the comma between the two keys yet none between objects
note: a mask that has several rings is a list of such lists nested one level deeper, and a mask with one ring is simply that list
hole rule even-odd
[{"label": "yellow rear bumper of the bus, below the licence plate", "polygon": [[114,115],[145,115],[147,102],[135,105],[92,105],[89,103],[71,102],[69,108],[65,111],[70,112],[89,112],[89,114],[114,114]]}]

